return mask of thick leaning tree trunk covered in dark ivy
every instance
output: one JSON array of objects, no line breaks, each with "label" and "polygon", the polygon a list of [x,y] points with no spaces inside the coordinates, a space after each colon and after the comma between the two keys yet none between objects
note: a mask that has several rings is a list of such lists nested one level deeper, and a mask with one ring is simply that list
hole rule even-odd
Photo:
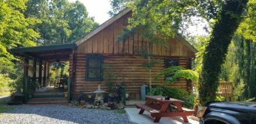
[{"label": "thick leaning tree trunk covered in dark ivy", "polygon": [[[203,55],[202,80],[199,81],[199,103],[215,101],[221,64],[225,60],[228,45],[241,20],[247,1],[226,1]],[[234,14],[230,14],[234,13]]]}]

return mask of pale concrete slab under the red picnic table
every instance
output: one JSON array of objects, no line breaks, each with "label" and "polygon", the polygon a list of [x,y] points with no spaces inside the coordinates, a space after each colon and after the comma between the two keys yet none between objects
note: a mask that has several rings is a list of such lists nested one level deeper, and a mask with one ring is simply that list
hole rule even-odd
[{"label": "pale concrete slab under the red picnic table", "polygon": [[[132,122],[135,123],[139,123],[139,124],[153,124],[154,123],[154,119],[150,116],[150,113],[145,111],[143,114],[138,114],[140,109],[137,108],[125,108],[127,114],[130,117],[130,120]],[[199,124],[198,121],[189,119],[190,124]],[[177,124],[177,123],[185,123],[182,119],[182,117],[163,117],[160,119],[160,121],[158,123],[154,123],[154,124]]]}]

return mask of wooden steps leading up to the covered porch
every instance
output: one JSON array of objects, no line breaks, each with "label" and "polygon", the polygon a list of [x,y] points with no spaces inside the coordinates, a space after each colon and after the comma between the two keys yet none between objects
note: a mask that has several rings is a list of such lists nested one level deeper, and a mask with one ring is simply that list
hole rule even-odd
[{"label": "wooden steps leading up to the covered porch", "polygon": [[68,103],[67,98],[30,98],[27,104]]}]

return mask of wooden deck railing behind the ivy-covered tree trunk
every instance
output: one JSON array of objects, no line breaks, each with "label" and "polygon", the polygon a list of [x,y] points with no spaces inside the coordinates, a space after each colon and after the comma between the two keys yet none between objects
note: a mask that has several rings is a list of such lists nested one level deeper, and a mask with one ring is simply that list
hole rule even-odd
[{"label": "wooden deck railing behind the ivy-covered tree trunk", "polygon": [[[192,82],[193,93],[195,93],[195,82]],[[220,81],[218,94],[220,96],[229,98],[232,101],[233,97],[233,84],[232,82]]]}]

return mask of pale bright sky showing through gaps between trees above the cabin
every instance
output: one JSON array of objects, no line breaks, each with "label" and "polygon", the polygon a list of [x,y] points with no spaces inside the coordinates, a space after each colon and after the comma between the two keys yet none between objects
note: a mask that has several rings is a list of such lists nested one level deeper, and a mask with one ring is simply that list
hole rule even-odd
[{"label": "pale bright sky showing through gaps between trees above the cabin", "polygon": [[[68,0],[69,2],[75,2],[77,0]],[[110,16],[108,11],[111,10],[110,0],[78,0],[83,3],[86,7],[87,12],[90,17],[94,17],[94,21],[99,24],[104,23]],[[206,22],[201,22],[197,26],[190,26],[189,32],[191,35],[207,35],[203,27],[206,25]]]}]

